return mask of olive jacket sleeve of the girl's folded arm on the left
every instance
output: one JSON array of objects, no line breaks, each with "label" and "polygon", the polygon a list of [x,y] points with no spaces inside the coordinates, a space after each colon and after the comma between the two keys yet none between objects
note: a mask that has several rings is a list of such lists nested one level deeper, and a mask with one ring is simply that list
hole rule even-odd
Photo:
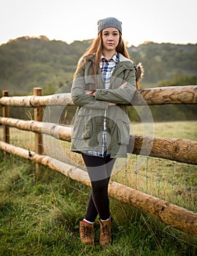
[{"label": "olive jacket sleeve of the girl's folded arm on the left", "polygon": [[92,108],[92,109],[103,109],[107,110],[109,102],[104,102],[103,100],[97,100],[95,97],[85,94],[85,79],[84,79],[84,70],[80,71],[77,74],[77,77],[72,83],[72,101],[74,105]]}]

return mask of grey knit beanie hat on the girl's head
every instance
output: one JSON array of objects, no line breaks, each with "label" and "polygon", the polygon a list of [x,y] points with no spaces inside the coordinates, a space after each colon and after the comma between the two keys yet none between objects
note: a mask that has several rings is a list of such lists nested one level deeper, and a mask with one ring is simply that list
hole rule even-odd
[{"label": "grey knit beanie hat on the girl's head", "polygon": [[97,25],[98,25],[98,34],[101,32],[101,30],[106,28],[116,28],[122,34],[122,22],[120,20],[117,20],[116,18],[109,17],[103,20],[99,20]]}]

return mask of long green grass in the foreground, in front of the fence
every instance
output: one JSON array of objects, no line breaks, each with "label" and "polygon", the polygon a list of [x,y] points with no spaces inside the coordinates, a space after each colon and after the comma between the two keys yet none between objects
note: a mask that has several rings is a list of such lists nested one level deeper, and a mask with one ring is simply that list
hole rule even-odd
[{"label": "long green grass in the foreground, in front of the fence", "polygon": [[[98,242],[85,246],[79,238],[79,221],[90,188],[46,167],[36,176],[30,162],[12,156],[5,161],[1,151],[0,157],[0,255],[196,255],[195,238],[171,231],[112,198],[112,246],[101,249]],[[95,236],[98,241],[98,222]]]}]

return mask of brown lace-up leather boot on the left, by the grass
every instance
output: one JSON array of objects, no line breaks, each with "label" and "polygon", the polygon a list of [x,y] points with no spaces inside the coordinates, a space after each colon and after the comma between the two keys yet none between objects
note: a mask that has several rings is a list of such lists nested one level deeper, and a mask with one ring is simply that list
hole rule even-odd
[{"label": "brown lace-up leather boot on the left, by the grass", "polygon": [[88,222],[80,222],[80,239],[82,243],[94,244],[93,224]]}]

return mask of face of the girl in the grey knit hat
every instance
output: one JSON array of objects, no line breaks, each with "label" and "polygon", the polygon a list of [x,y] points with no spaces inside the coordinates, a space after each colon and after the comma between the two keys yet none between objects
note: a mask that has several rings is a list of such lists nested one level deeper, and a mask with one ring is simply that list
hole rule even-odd
[{"label": "face of the girl in the grey knit hat", "polygon": [[107,28],[102,31],[103,50],[116,51],[119,44],[120,32],[115,28]]}]

